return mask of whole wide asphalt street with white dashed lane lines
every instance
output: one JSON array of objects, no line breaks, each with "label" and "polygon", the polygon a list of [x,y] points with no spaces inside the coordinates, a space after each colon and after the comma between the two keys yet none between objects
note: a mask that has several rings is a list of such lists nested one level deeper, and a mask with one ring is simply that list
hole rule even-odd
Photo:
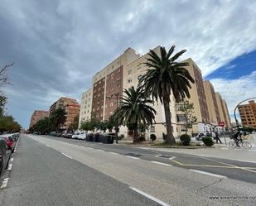
[{"label": "whole wide asphalt street with white dashed lane lines", "polygon": [[256,201],[256,164],[250,162],[32,135],[21,137],[12,158],[12,170],[1,177],[9,178],[0,190],[4,206]]}]

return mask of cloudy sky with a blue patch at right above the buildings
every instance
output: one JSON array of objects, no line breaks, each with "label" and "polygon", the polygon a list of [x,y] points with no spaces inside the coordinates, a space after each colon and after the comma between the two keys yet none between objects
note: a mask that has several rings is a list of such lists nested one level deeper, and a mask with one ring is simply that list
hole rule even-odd
[{"label": "cloudy sky with a blue patch at right above the buildings", "polygon": [[0,65],[12,61],[7,113],[28,127],[35,109],[80,99],[92,76],[129,46],[186,49],[229,113],[256,96],[256,1],[2,0]]}]

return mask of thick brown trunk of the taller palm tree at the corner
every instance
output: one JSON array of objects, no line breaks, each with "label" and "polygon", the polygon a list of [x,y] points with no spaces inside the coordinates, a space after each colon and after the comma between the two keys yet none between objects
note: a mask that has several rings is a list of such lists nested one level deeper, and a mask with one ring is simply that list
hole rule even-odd
[{"label": "thick brown trunk of the taller palm tree at the corner", "polygon": [[172,130],[171,130],[171,112],[170,112],[170,98],[169,97],[163,97],[163,107],[164,112],[166,116],[166,123],[167,123],[167,138],[166,142],[167,144],[174,145],[176,144],[176,141],[173,137]]}]

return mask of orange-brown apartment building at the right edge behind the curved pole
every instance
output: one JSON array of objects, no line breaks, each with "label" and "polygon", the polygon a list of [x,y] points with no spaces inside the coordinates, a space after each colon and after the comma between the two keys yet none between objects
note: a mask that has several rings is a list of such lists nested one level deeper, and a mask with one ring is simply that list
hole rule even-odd
[{"label": "orange-brown apartment building at the right edge behind the curved pole", "polygon": [[254,100],[239,105],[239,115],[243,126],[256,129],[256,103]]}]

